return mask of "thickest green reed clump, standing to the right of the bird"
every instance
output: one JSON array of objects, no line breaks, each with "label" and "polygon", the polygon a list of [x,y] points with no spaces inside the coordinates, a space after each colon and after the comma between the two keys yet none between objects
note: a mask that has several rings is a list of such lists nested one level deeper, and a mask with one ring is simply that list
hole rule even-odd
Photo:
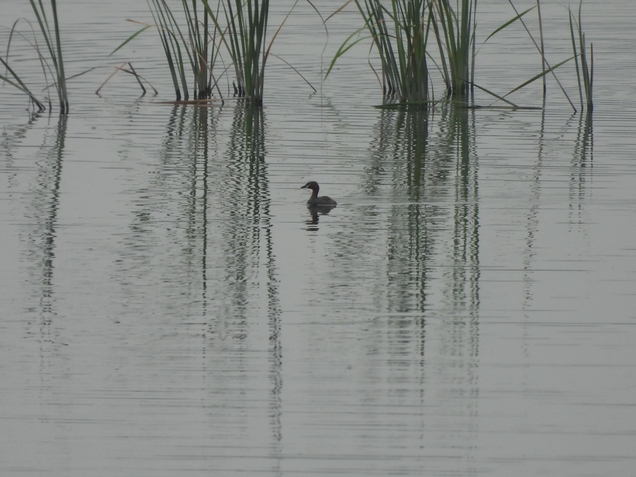
[{"label": "thickest green reed clump, standing to the right of the bird", "polygon": [[[355,1],[380,56],[385,93],[395,94],[400,102],[429,100],[426,57],[430,57],[427,39],[432,29],[446,95],[467,99],[474,75],[476,0],[458,0],[457,10],[450,0],[391,0],[385,2],[387,6],[380,0]],[[361,41],[347,45],[351,38],[340,47],[327,74],[338,57]]]}]

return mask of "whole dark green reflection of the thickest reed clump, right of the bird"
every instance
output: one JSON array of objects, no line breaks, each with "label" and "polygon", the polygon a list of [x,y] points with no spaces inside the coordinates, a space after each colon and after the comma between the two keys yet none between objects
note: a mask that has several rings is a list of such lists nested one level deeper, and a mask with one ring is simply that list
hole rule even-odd
[{"label": "whole dark green reflection of the thickest reed clump, right of the bird", "polygon": [[[373,196],[390,186],[383,198],[384,276],[375,285],[375,301],[386,315],[373,320],[377,338],[370,347],[387,355],[389,399],[431,405],[439,396],[429,387],[442,390],[444,427],[453,429],[444,432],[462,442],[456,457],[466,462],[474,449],[479,392],[478,162],[474,111],[447,107],[440,113],[380,114],[365,187]],[[378,343],[386,349],[378,350]],[[436,366],[427,366],[430,357]],[[431,427],[425,415],[411,424],[422,436]]]}]

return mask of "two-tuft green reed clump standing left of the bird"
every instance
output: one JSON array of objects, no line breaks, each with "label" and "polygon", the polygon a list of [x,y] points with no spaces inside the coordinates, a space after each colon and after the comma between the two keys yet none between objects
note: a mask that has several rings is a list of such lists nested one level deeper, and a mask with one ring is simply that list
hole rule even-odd
[{"label": "two-tuft green reed clump standing left of the bird", "polygon": [[[191,3],[182,0],[181,3],[186,18],[186,28],[179,26],[166,0],[150,0],[149,6],[155,24],[135,22],[144,27],[123,41],[113,53],[142,31],[149,27],[156,27],[177,100],[181,100],[182,97],[184,100],[190,98],[188,74],[186,74],[188,63],[194,75],[195,98],[205,99],[211,97],[212,90],[215,88],[222,97],[218,81],[228,67],[223,69],[218,78],[215,78],[213,74],[213,67],[217,60],[222,59],[219,52],[223,45],[235,71],[236,81],[233,81],[235,95],[245,97],[257,106],[261,105],[266,60],[274,39],[298,0],[287,13],[279,29],[273,34],[267,47],[265,38],[269,0],[218,0],[216,10],[212,9],[207,0],[191,0]],[[225,26],[222,27],[222,24]]]}]

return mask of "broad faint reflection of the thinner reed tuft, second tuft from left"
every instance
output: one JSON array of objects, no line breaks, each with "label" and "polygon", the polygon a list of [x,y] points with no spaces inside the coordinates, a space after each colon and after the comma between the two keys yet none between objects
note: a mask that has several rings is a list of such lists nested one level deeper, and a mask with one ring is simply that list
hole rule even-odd
[{"label": "broad faint reflection of the thinner reed tuft, second tuft from left", "polygon": [[[207,314],[211,155],[219,110],[174,106],[150,174],[130,191],[131,220],[118,261],[130,312]],[[148,179],[146,179],[148,177]],[[169,273],[167,272],[169,270]]]}]

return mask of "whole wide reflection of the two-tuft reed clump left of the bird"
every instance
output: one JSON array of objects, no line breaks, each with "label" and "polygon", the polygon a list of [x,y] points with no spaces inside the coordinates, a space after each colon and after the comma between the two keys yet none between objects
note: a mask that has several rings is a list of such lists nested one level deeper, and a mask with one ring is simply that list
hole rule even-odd
[{"label": "whole wide reflection of the two-tuft reed clump left of the bird", "polygon": [[[277,462],[282,345],[265,116],[238,103],[230,113],[232,129],[225,137],[218,134],[225,110],[170,111],[150,179],[133,193],[134,217],[119,275],[127,280],[128,312],[139,307],[148,333],[165,333],[179,320],[202,323],[212,439],[236,445],[251,439],[240,431],[250,427],[251,411],[237,402],[256,393],[259,402],[268,403],[262,413],[271,426],[266,445],[274,457],[270,462]],[[265,351],[263,343],[269,344]],[[267,358],[255,364],[255,350]],[[268,377],[265,382],[254,380],[255,369]],[[223,427],[228,413],[243,424]],[[265,445],[262,437],[254,436],[260,439],[255,446]]]}]

